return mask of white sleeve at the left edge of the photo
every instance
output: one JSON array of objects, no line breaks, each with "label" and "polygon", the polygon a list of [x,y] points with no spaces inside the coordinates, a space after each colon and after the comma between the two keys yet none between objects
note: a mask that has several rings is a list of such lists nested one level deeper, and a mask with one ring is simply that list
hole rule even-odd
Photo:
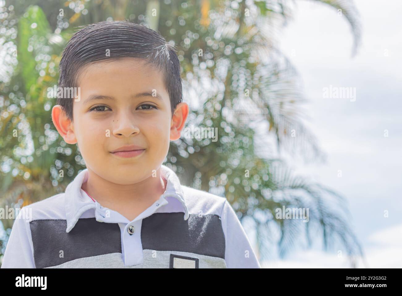
[{"label": "white sleeve at the left edge of the photo", "polygon": [[21,209],[12,225],[1,268],[35,268],[29,219]]}]

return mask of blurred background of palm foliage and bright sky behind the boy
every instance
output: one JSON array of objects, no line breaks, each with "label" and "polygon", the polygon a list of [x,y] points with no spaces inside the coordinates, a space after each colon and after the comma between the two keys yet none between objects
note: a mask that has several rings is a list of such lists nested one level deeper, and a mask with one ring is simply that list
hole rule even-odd
[{"label": "blurred background of palm foliage and bright sky behind the boy", "polygon": [[[217,128],[218,141],[172,141],[164,164],[228,199],[262,267],[402,267],[401,8],[0,0],[0,263],[7,209],[64,192],[85,168],[47,98],[66,42],[79,26],[126,20],[176,45],[187,126]],[[283,219],[283,207],[308,219]]]}]

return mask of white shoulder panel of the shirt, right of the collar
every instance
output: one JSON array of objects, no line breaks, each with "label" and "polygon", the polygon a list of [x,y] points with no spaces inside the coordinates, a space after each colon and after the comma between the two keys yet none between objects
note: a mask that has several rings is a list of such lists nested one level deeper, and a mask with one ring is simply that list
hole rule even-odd
[{"label": "white shoulder panel of the shirt, right of the collar", "polygon": [[226,203],[226,197],[220,197],[218,195],[184,185],[182,185],[182,189],[190,214],[215,214],[221,217],[222,209],[224,209]]}]

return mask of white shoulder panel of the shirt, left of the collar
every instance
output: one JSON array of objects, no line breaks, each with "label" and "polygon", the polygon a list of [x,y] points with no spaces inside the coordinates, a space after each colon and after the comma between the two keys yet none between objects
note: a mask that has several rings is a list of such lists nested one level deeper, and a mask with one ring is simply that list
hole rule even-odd
[{"label": "white shoulder panel of the shirt, left of the collar", "polygon": [[66,219],[64,206],[65,193],[59,193],[24,206],[21,211],[28,212],[32,220]]}]

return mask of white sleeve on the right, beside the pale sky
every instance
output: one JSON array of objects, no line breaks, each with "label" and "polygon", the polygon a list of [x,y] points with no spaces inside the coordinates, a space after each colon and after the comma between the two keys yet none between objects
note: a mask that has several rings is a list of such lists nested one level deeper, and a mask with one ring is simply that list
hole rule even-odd
[{"label": "white sleeve on the right, beside the pale sky", "polygon": [[225,234],[225,262],[228,268],[261,268],[236,212],[226,200],[221,213]]}]

